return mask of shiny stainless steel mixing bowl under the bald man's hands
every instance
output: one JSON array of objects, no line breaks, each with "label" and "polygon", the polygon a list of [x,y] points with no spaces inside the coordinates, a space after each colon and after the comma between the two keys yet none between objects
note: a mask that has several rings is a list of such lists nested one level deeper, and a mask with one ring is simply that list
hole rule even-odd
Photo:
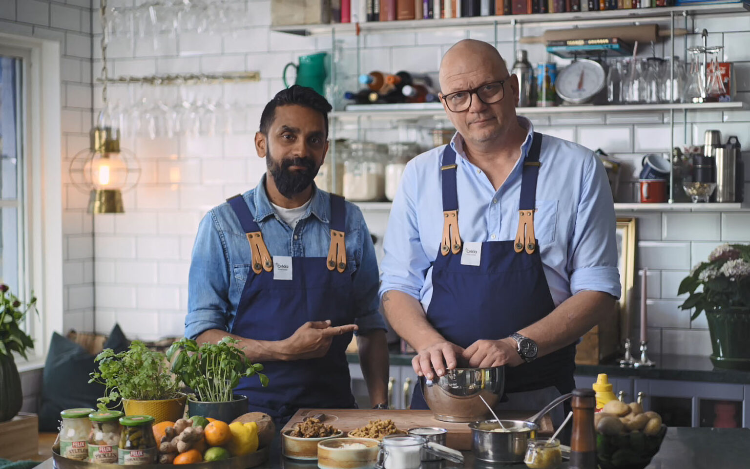
[{"label": "shiny stainless steel mixing bowl under the bald man's hands", "polygon": [[487,404],[495,406],[505,387],[505,368],[455,368],[437,381],[419,377],[425,401],[435,418],[445,422],[475,422],[489,414]]}]

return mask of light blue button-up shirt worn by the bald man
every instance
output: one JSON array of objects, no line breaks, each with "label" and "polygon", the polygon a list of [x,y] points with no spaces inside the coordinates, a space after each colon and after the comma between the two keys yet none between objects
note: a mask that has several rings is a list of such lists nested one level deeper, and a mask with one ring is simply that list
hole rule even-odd
[{"label": "light blue button-up shirt worn by the bald man", "polygon": [[[518,120],[528,129],[522,155],[497,191],[484,172],[466,159],[460,134],[450,143],[457,155],[458,228],[463,242],[515,239],[520,161],[529,152],[533,132],[528,119]],[[425,311],[432,298],[432,263],[443,239],[443,149],[431,149],[407,164],[393,200],[380,265],[381,295],[388,290],[407,293],[419,299]],[[601,161],[591,150],[549,135],[541,140],[539,158],[534,233],[555,306],[584,290],[619,297],[616,218]]]}]

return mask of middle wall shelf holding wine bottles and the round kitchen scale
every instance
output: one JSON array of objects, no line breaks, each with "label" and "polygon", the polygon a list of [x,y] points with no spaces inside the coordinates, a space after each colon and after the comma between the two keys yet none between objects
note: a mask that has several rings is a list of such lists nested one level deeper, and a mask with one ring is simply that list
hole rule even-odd
[{"label": "middle wall shelf holding wine bottles and the round kitchen scale", "polygon": [[[614,104],[612,106],[558,106],[558,107],[518,107],[516,113],[520,116],[571,114],[571,113],[636,113],[643,111],[669,110],[747,110],[750,105],[742,101],[728,103],[676,103],[676,104]],[[447,119],[440,103],[419,104],[350,104],[345,111],[329,113],[332,119],[352,120],[391,119],[409,120],[431,117]]]}]

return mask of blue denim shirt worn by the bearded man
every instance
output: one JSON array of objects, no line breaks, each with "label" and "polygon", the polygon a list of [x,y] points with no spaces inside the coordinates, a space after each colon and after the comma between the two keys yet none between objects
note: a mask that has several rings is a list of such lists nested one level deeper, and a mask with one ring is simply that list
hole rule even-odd
[{"label": "blue denim shirt worn by the bearded man", "polygon": [[[321,262],[325,263],[331,243],[329,193],[313,188],[311,203],[294,230],[274,212],[266,194],[266,176],[242,197],[272,256],[323,257]],[[348,202],[346,226],[347,270],[341,275],[352,276],[354,323],[359,326],[359,333],[386,329],[378,311],[375,248],[362,212]],[[232,329],[245,281],[253,274],[251,257],[248,238],[229,203],[208,211],[193,245],[185,337],[196,338],[208,329]]]}]

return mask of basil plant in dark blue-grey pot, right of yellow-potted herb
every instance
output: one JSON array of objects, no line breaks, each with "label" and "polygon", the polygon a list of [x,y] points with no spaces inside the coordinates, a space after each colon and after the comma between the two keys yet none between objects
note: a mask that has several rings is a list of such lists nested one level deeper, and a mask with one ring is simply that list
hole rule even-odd
[{"label": "basil plant in dark blue-grey pot, right of yellow-potted herb", "polygon": [[182,338],[166,351],[172,372],[195,393],[187,405],[190,415],[231,422],[248,411],[248,398],[233,393],[240,378],[257,375],[260,383],[268,386],[269,378],[259,372],[263,365],[252,364],[237,344],[238,340],[228,336],[218,344],[200,346]]}]

